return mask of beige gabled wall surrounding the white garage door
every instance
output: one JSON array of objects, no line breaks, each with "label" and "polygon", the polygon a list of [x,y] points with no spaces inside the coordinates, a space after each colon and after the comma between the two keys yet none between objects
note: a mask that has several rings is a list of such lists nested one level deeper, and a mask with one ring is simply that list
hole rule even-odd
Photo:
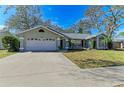
[{"label": "beige gabled wall surrounding the white garage door", "polygon": [[59,50],[59,46],[60,46],[60,36],[54,34],[53,32],[47,31],[45,29],[43,29],[45,32],[39,32],[39,29],[35,29],[32,31],[28,31],[25,33],[22,33],[19,35],[20,38],[20,51],[26,51],[28,49],[26,49],[26,40],[28,38],[52,38],[56,40],[56,50]]}]

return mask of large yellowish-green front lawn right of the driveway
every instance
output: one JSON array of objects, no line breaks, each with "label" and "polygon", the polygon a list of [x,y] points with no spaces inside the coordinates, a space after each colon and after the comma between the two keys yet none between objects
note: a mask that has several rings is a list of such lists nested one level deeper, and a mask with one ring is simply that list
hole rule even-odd
[{"label": "large yellowish-green front lawn right of the driveway", "polygon": [[87,50],[66,52],[64,55],[80,68],[124,65],[124,51]]}]

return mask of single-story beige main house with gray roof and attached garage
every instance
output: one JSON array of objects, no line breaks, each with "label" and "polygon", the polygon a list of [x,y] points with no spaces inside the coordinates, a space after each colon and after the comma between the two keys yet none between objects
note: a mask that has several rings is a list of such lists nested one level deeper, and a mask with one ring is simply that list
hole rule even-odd
[{"label": "single-story beige main house with gray roof and attached garage", "polygon": [[93,40],[94,48],[106,49],[102,42],[104,34],[91,36],[89,34],[62,33],[50,27],[38,26],[17,33],[20,39],[20,51],[56,51],[68,49],[90,48]]}]

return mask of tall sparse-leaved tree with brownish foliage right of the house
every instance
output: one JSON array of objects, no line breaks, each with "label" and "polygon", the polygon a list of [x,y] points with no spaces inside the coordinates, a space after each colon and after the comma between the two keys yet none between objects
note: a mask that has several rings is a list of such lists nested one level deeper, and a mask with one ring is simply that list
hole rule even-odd
[{"label": "tall sparse-leaved tree with brownish foliage right of the house", "polygon": [[114,32],[124,25],[123,9],[123,6],[92,6],[85,14],[99,32],[106,32],[109,49]]}]

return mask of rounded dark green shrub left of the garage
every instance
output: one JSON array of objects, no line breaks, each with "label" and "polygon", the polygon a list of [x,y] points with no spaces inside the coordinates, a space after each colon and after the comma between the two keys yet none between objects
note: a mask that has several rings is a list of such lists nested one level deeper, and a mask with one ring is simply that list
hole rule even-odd
[{"label": "rounded dark green shrub left of the garage", "polygon": [[2,38],[3,47],[10,52],[19,51],[20,42],[14,36],[5,36]]}]

